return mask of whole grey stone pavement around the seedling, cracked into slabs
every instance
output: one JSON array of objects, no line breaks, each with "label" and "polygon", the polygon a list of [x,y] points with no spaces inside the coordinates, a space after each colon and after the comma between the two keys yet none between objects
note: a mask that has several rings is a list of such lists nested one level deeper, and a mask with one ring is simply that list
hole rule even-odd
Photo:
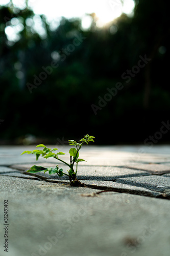
[{"label": "whole grey stone pavement around the seedling, cracked into slabs", "polygon": [[34,149],[0,147],[0,255],[169,256],[169,145],[82,147],[84,188],[70,187],[67,177],[28,174],[34,164],[57,164],[20,156]]}]

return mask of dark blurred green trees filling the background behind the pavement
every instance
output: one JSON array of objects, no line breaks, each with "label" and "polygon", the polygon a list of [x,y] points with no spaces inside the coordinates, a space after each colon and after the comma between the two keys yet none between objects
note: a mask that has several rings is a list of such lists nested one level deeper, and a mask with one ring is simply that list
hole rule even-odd
[{"label": "dark blurred green trees filling the background behind the pavement", "polygon": [[[123,14],[103,29],[94,19],[84,31],[81,20],[63,17],[51,30],[40,15],[41,35],[31,25],[34,18],[28,8],[0,8],[1,140],[31,134],[55,144],[57,137],[89,133],[98,144],[138,143],[159,131],[170,110],[167,1],[136,1],[133,17]],[[5,29],[15,23],[22,29],[12,44]],[[127,83],[122,74],[144,55],[152,61]],[[58,67],[30,93],[28,83],[54,60]],[[116,82],[124,89],[95,115],[91,104],[99,105],[99,96]],[[103,140],[101,133],[107,135]],[[166,134],[161,141],[169,138]]]}]

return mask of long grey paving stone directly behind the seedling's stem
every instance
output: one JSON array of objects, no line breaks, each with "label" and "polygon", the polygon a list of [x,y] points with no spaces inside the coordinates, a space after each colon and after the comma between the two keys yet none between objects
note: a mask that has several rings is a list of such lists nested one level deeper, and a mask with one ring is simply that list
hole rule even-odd
[{"label": "long grey paving stone directly behind the seedling's stem", "polygon": [[[43,166],[43,167],[55,167],[53,163],[31,163],[31,164],[22,164],[22,165],[12,165],[12,167],[15,167],[17,169],[22,170],[28,170],[33,165]],[[67,173],[66,167],[63,164],[58,165],[60,168],[63,168],[64,172]],[[44,174],[43,172],[39,172],[34,174],[35,176],[39,178],[50,178],[50,179],[58,179],[59,177],[54,175],[49,175],[47,172]],[[124,178],[124,177],[133,177],[133,176],[143,176],[143,175],[150,175],[150,173],[145,172],[143,170],[134,170],[134,169],[128,169],[123,167],[113,167],[113,166],[89,166],[89,165],[79,165],[78,167],[78,179],[100,179],[100,180],[114,180],[117,178]],[[67,177],[63,176],[62,179]]]}]

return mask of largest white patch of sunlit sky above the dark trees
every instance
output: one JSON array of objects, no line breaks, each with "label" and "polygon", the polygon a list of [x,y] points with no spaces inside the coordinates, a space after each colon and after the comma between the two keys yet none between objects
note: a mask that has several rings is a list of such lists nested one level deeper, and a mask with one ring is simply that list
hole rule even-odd
[{"label": "largest white patch of sunlit sky above the dark trees", "polygon": [[122,13],[132,15],[135,4],[133,0],[48,0],[46,5],[42,0],[29,0],[29,6],[36,14],[45,14],[49,22],[62,16],[82,18],[82,27],[87,29],[91,22],[85,14],[95,13],[97,26],[104,27]]}]

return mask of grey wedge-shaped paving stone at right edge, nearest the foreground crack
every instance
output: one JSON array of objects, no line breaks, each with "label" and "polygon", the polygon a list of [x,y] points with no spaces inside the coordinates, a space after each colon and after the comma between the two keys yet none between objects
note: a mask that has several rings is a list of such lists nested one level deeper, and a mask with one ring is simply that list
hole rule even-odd
[{"label": "grey wedge-shaped paving stone at right edge, nearest the foreground crack", "polygon": [[145,187],[160,192],[170,188],[170,177],[157,175],[123,178],[117,179],[115,182]]}]

